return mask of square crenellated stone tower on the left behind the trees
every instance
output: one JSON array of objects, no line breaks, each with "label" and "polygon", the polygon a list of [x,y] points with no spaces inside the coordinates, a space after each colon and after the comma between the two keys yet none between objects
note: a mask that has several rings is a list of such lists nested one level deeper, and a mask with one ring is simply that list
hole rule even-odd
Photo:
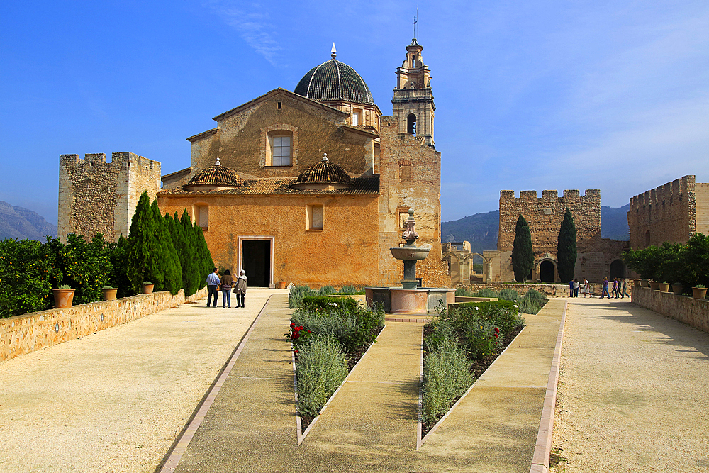
[{"label": "square crenellated stone tower on the left behind the trees", "polygon": [[59,237],[68,233],[91,239],[103,233],[107,241],[128,235],[130,220],[143,191],[155,199],[160,189],[160,162],[132,152],[60,155]]}]

